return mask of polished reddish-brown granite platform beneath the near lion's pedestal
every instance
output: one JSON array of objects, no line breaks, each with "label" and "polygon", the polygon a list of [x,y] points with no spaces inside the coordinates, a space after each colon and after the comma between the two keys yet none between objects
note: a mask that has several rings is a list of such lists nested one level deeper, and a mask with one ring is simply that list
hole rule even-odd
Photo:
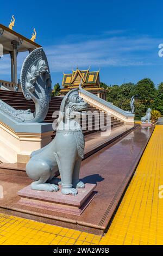
[{"label": "polished reddish-brown granite platform beneath the near lion's pedestal", "polygon": [[134,175],[154,127],[139,126],[82,161],[80,179],[85,184],[96,185],[96,196],[81,214],[27,205],[18,208],[20,196],[17,192],[28,186],[31,180],[16,173],[5,174],[4,170],[1,173],[1,168],[3,198],[0,199],[0,212],[93,234],[104,234]]}]

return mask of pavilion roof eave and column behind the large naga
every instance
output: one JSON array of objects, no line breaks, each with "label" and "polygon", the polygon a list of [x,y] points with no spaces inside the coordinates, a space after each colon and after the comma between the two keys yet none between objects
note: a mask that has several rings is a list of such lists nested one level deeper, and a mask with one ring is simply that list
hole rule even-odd
[{"label": "pavilion roof eave and column behind the large naga", "polygon": [[11,82],[17,84],[17,54],[31,52],[41,46],[2,24],[0,24],[0,44],[3,46],[3,55],[10,54]]}]

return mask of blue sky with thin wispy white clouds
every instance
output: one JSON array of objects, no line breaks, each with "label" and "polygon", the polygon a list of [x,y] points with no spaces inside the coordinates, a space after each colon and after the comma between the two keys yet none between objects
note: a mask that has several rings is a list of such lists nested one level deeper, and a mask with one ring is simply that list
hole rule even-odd
[{"label": "blue sky with thin wispy white clouds", "polygon": [[[161,1],[3,1],[1,23],[27,38],[36,29],[36,42],[43,46],[53,84],[62,72],[101,68],[107,84],[134,82],[149,77],[163,81],[163,4]],[[3,10],[3,11],[2,11]],[[18,71],[27,53],[18,54]],[[0,79],[10,80],[10,59],[0,60]]]}]

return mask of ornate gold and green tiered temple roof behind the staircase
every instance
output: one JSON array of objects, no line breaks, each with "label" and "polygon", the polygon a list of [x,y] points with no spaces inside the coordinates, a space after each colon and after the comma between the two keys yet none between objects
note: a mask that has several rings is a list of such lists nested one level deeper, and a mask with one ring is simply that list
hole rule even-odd
[{"label": "ornate gold and green tiered temple roof behind the staircase", "polygon": [[99,87],[99,70],[91,72],[89,69],[79,70],[77,68],[76,71],[72,70],[72,74],[64,74],[62,87],[78,87],[82,79],[84,86]]}]

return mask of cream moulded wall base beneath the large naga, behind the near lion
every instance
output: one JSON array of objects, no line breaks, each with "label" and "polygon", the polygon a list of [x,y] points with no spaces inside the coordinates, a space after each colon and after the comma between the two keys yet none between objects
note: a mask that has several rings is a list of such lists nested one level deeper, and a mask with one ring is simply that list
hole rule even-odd
[{"label": "cream moulded wall base beneath the large naga, behind the near lion", "polygon": [[0,161],[27,163],[33,150],[38,150],[51,142],[52,131],[15,132],[0,122]]}]

